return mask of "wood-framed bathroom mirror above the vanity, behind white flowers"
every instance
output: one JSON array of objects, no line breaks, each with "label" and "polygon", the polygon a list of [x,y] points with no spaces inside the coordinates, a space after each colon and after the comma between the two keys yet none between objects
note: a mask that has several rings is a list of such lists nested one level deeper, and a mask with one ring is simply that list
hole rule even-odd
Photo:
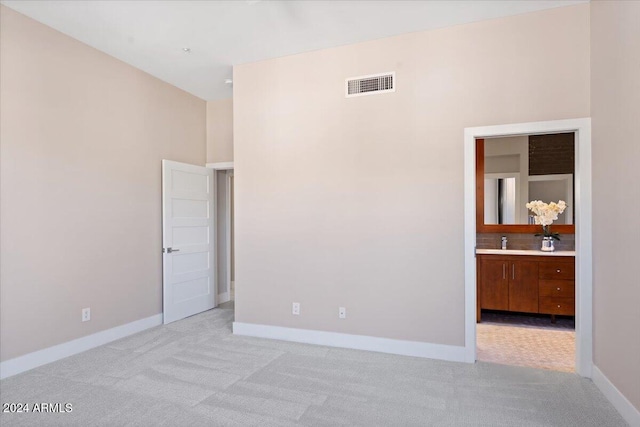
[{"label": "wood-framed bathroom mirror above the vanity, behind white flowers", "polygon": [[476,140],[478,232],[536,233],[530,200],[564,200],[554,231],[574,233],[575,135],[517,135]]}]

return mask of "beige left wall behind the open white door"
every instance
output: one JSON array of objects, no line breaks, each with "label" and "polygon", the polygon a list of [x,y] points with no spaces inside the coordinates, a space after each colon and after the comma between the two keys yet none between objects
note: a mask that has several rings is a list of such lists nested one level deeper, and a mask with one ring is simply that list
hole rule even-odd
[{"label": "beige left wall behind the open white door", "polygon": [[0,14],[7,360],[161,313],[160,160],[204,165],[206,106],[11,9]]}]

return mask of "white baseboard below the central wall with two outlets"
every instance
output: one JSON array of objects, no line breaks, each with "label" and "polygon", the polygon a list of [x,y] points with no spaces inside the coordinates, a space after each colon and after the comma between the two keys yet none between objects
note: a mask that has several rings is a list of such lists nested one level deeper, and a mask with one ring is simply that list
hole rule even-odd
[{"label": "white baseboard below the central wall with two outlets", "polygon": [[366,335],[351,335],[339,332],[314,331],[309,329],[284,328],[281,326],[258,325],[233,322],[233,333],[250,337],[271,338],[283,341],[326,345],[329,347],[352,348],[377,351],[403,356],[425,357],[429,359],[465,361],[465,348],[444,344],[430,344],[417,341],[378,338]]}]

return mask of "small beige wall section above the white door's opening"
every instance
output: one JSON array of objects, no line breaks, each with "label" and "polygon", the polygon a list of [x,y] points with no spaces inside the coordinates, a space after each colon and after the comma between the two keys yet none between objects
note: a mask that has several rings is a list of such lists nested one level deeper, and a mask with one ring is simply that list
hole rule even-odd
[{"label": "small beige wall section above the white door's opening", "polygon": [[207,102],[207,163],[233,161],[233,98]]}]

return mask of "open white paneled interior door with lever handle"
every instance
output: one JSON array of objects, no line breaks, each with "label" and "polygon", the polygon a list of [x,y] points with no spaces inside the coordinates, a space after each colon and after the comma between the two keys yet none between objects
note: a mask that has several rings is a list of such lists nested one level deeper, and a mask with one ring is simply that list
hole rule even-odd
[{"label": "open white paneled interior door with lever handle", "polygon": [[213,170],[162,161],[164,323],[215,307]]}]

